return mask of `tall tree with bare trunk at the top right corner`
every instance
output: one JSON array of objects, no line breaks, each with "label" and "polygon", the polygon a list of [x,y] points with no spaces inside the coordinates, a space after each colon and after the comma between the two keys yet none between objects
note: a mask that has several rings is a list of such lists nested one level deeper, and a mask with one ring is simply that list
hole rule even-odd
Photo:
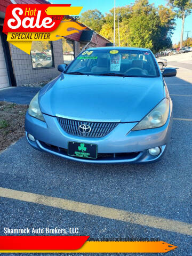
[{"label": "tall tree with bare trunk at the top right corner", "polygon": [[192,0],[167,0],[167,3],[173,8],[173,10],[175,10],[175,13],[177,13],[178,18],[182,19],[180,39],[180,48],[182,48],[185,18],[192,11]]}]

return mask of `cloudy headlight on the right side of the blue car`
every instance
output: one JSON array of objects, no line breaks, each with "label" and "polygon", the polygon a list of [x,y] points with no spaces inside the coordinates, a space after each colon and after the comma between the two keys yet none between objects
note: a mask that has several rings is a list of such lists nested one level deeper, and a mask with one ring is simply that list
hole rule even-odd
[{"label": "cloudy headlight on the right side of the blue car", "polygon": [[168,116],[169,100],[165,98],[135,125],[132,131],[161,127],[166,123]]}]

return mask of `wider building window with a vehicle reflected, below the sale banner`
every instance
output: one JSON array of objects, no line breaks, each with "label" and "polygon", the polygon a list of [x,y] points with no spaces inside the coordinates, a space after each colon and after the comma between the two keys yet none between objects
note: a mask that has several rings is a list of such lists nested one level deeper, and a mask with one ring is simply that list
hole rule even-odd
[{"label": "wider building window with a vehicle reflected, below the sale banner", "polygon": [[33,68],[53,68],[53,49],[50,41],[34,41],[31,45]]}]

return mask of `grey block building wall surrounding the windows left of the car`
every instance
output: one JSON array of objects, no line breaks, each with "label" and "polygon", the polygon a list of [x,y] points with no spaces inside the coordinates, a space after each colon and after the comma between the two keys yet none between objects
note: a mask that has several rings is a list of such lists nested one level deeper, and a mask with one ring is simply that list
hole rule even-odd
[{"label": "grey block building wall surrounding the windows left of the car", "polygon": [[62,41],[53,41],[54,68],[33,69],[31,56],[10,44],[12,64],[17,86],[42,82],[60,74],[58,65],[63,64]]}]

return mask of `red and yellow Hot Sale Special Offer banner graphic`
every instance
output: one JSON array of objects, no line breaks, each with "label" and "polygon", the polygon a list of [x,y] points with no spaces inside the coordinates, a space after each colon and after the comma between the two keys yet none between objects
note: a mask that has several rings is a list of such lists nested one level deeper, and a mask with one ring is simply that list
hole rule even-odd
[{"label": "red and yellow Hot Sale Special Offer banner graphic", "polygon": [[30,54],[32,41],[56,41],[86,27],[69,15],[82,6],[70,4],[11,4],[7,7],[3,33],[7,41]]}]

